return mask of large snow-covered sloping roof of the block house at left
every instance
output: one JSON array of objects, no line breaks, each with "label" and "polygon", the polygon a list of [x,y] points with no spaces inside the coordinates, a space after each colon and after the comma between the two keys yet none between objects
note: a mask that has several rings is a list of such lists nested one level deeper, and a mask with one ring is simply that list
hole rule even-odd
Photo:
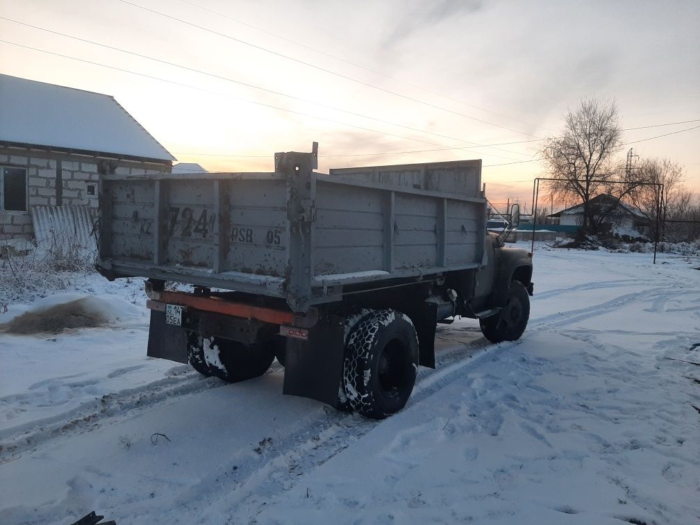
[{"label": "large snow-covered sloping roof of the block house at left", "polygon": [[109,95],[0,74],[0,143],[176,160]]}]

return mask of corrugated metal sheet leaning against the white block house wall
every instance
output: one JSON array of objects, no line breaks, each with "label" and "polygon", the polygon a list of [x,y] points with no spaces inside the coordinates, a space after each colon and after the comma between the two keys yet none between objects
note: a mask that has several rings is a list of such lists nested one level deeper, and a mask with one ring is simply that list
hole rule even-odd
[{"label": "corrugated metal sheet leaning against the white block house wall", "polygon": [[87,206],[32,206],[31,222],[38,246],[73,242],[97,253],[94,210]]}]

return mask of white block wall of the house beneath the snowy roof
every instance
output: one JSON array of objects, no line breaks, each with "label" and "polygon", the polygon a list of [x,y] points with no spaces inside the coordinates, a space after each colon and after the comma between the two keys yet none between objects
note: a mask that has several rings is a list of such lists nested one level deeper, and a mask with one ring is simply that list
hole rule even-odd
[{"label": "white block wall of the house beneath the snowy roof", "polygon": [[[100,158],[38,150],[20,150],[0,146],[0,166],[27,169],[27,198],[32,206],[86,205],[97,209],[97,191],[87,195],[87,185],[99,186]],[[59,167],[59,169],[58,169]],[[172,167],[153,162],[117,161],[116,173],[156,174],[170,172]],[[99,187],[96,188],[99,190]],[[0,241],[34,235],[29,211],[0,211]]]}]

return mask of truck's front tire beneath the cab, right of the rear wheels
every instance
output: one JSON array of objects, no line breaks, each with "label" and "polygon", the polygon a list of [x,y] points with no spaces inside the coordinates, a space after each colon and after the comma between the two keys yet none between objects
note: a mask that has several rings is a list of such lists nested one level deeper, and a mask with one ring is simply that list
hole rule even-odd
[{"label": "truck's front tire beneath the cab, right of the rear wheels", "polygon": [[492,343],[517,341],[530,318],[530,297],[520,281],[512,281],[505,294],[503,309],[495,316],[479,319],[482,334]]}]

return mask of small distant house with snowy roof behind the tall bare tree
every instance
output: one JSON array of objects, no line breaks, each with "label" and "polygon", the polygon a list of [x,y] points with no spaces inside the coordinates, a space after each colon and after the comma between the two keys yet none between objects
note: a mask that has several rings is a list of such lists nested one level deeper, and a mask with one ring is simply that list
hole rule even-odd
[{"label": "small distant house with snowy roof behind the tall bare tree", "polygon": [[[598,195],[589,200],[594,221],[610,225],[616,235],[638,237],[648,226],[648,219],[635,207],[617,200],[612,195]],[[580,226],[583,224],[583,204],[557,211],[547,217],[558,218],[559,225]]]}]

